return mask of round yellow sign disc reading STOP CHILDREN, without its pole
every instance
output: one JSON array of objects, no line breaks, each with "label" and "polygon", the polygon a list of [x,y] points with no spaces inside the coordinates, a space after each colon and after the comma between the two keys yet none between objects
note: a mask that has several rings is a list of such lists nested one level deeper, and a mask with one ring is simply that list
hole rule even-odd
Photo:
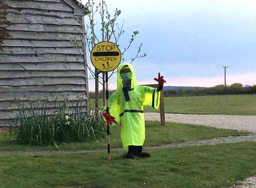
[{"label": "round yellow sign disc reading STOP CHILDREN, without its pole", "polygon": [[93,47],[91,61],[93,66],[100,71],[113,71],[120,64],[121,51],[114,43],[103,41]]}]

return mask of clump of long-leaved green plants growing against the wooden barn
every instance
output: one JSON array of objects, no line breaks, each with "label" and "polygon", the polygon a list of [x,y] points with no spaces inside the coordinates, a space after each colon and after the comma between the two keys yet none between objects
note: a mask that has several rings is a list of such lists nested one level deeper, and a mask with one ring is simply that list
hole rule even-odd
[{"label": "clump of long-leaved green plants growing against the wooden barn", "polygon": [[[9,123],[10,136],[18,143],[56,145],[58,142],[84,142],[106,138],[106,125],[96,116],[83,95],[74,100],[51,96],[28,104],[16,100],[18,115]],[[58,146],[57,146],[58,147]]]}]

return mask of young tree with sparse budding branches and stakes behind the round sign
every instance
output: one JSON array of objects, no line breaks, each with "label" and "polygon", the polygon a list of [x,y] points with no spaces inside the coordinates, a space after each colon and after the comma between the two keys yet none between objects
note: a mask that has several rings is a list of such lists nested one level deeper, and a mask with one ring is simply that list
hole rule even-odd
[{"label": "young tree with sparse budding branches and stakes behind the round sign", "polygon": [[[82,7],[82,2],[79,0],[79,5]],[[106,1],[99,0],[98,4],[95,2],[95,0],[87,0],[85,4],[85,10],[89,10],[87,14],[87,18],[89,20],[88,24],[86,24],[86,31],[84,33],[84,37],[86,39],[86,46],[88,51],[91,53],[92,48],[99,43],[100,41],[111,41],[115,43],[118,47],[120,47],[121,38],[122,35],[124,35],[124,20],[122,23],[118,23],[118,17],[122,13],[121,10],[114,11],[114,14],[111,15],[108,11],[108,6],[106,4]],[[97,25],[98,22],[96,22],[96,16],[100,16],[100,25]],[[100,33],[97,35],[97,33]],[[132,46],[132,43],[134,42],[134,39],[136,38],[136,35],[138,35],[140,32],[138,30],[133,31],[130,40],[128,41],[126,47],[121,50],[122,60],[121,63],[127,62],[128,60],[124,57],[126,51]],[[99,36],[100,35],[100,36]],[[76,44],[76,40],[72,38],[74,45]],[[134,62],[137,58],[140,57],[146,57],[146,54],[144,53],[141,55],[141,48],[142,43],[138,46],[138,50],[134,57],[128,61],[129,63]],[[95,108],[98,110],[98,85],[99,83],[103,86],[103,103],[105,104],[105,79],[104,74],[105,72],[100,72],[97,69],[94,71],[91,69],[91,67],[87,64],[86,65],[91,73],[91,75],[95,79]],[[109,78],[116,73],[115,71],[112,71],[110,73]],[[100,76],[100,74],[102,76]]]}]

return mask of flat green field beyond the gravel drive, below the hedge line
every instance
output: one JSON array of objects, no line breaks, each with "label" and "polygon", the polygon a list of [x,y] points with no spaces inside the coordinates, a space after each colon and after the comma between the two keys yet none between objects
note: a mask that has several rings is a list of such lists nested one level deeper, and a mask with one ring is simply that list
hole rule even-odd
[{"label": "flat green field beyond the gravel drive, below the hedge line", "polygon": [[[256,95],[164,97],[166,113],[256,115]],[[150,107],[145,112],[160,112]]]}]

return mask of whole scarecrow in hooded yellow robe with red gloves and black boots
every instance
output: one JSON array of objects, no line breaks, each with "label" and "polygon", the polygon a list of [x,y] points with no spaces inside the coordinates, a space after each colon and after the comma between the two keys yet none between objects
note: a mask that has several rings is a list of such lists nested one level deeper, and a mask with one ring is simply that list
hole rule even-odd
[{"label": "whole scarecrow in hooded yellow robe with red gloves and black boots", "polygon": [[159,108],[160,91],[166,82],[160,73],[154,80],[158,81],[158,88],[138,86],[131,64],[122,64],[117,69],[117,89],[109,98],[110,114],[106,113],[105,106],[103,116],[108,126],[120,121],[122,145],[128,147],[125,158],[150,157],[149,153],[142,152],[145,140],[143,106]]}]

